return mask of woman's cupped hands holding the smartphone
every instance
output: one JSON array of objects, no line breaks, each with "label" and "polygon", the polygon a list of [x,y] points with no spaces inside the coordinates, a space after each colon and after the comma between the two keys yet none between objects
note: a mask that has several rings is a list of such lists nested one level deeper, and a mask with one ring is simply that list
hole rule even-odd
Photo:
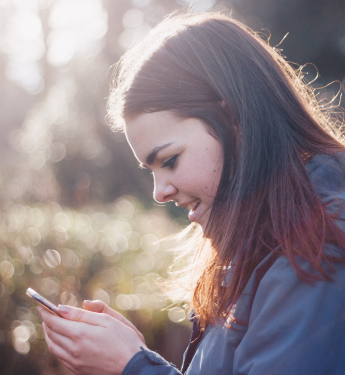
[{"label": "woman's cupped hands holding the smartphone", "polygon": [[120,375],[144,346],[136,331],[108,314],[62,305],[65,319],[38,311],[49,350],[75,374]]}]

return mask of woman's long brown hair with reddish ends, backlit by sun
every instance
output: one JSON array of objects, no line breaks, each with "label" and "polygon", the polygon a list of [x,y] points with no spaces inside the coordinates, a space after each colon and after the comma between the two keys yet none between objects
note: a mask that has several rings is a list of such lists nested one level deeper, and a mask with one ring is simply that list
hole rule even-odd
[{"label": "woman's long brown hair with reddish ends, backlit by sun", "polygon": [[[345,238],[306,163],[316,154],[343,152],[344,145],[300,71],[243,24],[220,14],[187,14],[165,19],[130,49],[113,83],[108,109],[115,127],[123,126],[120,119],[168,110],[205,122],[223,147],[204,233],[211,245],[198,253],[207,256],[199,258],[193,284],[202,327],[229,315],[270,252],[285,255],[306,282],[331,280],[332,262],[344,263],[344,256],[325,254],[324,244],[345,249]],[[298,257],[315,272],[303,270]]]}]

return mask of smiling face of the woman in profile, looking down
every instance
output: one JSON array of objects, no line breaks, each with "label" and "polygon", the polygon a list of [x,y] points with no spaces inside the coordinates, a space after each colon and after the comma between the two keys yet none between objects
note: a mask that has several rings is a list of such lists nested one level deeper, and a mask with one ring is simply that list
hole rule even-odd
[{"label": "smiling face of the woman in profile, looking down", "polygon": [[205,230],[223,167],[222,147],[207,126],[170,111],[144,113],[126,121],[126,136],[153,172],[155,200],[186,207],[189,220]]}]

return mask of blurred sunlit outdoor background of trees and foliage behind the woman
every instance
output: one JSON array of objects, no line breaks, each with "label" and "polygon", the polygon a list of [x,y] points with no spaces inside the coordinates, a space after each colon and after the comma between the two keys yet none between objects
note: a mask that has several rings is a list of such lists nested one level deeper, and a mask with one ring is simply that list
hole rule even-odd
[{"label": "blurred sunlit outdoor background of trees and foliage behind the woman", "polygon": [[57,304],[101,299],[180,366],[190,324],[156,285],[173,247],[157,241],[187,215],[153,202],[150,173],[105,116],[111,66],[189,7],[231,13],[272,46],[289,33],[277,48],[317,67],[320,100],[341,90],[343,0],[0,0],[1,374],[70,373],[47,352],[29,286]]}]

